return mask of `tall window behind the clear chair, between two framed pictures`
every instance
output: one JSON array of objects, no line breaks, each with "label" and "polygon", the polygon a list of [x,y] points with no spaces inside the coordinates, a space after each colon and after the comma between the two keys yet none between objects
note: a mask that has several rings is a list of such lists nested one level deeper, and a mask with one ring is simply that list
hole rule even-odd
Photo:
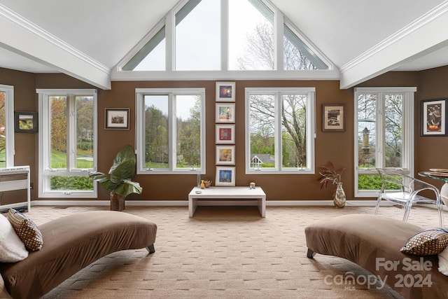
[{"label": "tall window behind the clear chair, between two framed pictures", "polygon": [[377,196],[381,188],[377,167],[414,175],[415,91],[355,89],[355,196]]}]

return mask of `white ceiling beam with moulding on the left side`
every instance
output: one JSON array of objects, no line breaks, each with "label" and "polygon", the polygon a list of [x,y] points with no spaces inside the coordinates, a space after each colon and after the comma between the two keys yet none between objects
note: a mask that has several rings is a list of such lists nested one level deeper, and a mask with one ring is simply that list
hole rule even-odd
[{"label": "white ceiling beam with moulding on the left side", "polygon": [[111,89],[111,70],[0,4],[0,46],[90,83]]}]

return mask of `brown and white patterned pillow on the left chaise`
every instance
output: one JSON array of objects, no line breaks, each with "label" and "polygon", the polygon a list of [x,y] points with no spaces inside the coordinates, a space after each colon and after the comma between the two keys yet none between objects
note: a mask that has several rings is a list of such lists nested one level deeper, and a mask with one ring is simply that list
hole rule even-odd
[{"label": "brown and white patterned pillow on the left chaise", "polygon": [[42,248],[42,233],[30,218],[20,211],[9,209],[8,220],[28,250],[38,251]]}]

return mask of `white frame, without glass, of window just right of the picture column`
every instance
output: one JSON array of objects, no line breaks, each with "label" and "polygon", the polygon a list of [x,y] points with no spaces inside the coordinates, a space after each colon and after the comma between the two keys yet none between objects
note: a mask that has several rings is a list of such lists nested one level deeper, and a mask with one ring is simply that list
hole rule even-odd
[{"label": "white frame, without glass, of window just right of the picture column", "polygon": [[[281,102],[283,94],[307,94],[307,165],[304,167],[285,167],[281,166]],[[314,174],[315,172],[315,153],[314,143],[316,139],[316,88],[246,88],[246,174]],[[251,167],[251,134],[249,129],[250,118],[250,97],[251,95],[274,95],[275,96],[275,132],[274,132],[274,151],[275,167]]]}]

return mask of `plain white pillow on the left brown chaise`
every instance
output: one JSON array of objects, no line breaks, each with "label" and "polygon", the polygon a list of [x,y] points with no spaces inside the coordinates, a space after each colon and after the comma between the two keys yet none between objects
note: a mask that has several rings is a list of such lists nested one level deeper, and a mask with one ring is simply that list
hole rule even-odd
[{"label": "plain white pillow on the left brown chaise", "polygon": [[28,251],[13,225],[0,214],[0,262],[15,263],[28,257]]}]

